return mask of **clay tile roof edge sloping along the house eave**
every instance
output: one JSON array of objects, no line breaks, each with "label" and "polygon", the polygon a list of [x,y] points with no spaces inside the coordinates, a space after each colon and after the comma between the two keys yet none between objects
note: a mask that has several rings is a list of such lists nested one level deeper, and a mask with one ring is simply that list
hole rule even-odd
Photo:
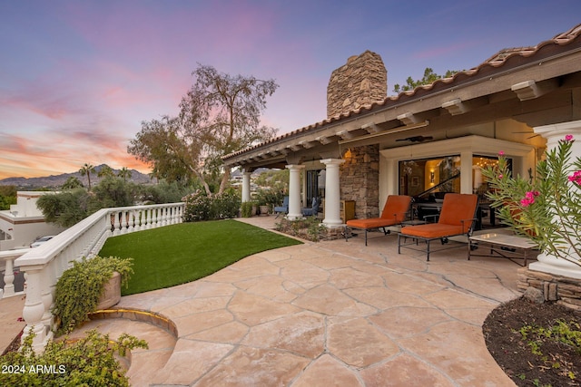
[{"label": "clay tile roof edge sloping along the house eave", "polygon": [[464,82],[468,79],[471,79],[473,77],[478,76],[479,73],[489,73],[491,71],[492,72],[498,71],[497,69],[501,69],[504,66],[507,66],[507,63],[511,63],[513,61],[518,61],[519,58],[520,59],[522,59],[522,58],[535,59],[537,55],[538,56],[541,55],[541,53],[545,47],[547,47],[547,46],[550,47],[550,46],[554,46],[554,45],[563,46],[566,44],[570,44],[573,41],[575,41],[576,38],[579,36],[581,36],[581,24],[577,24],[576,26],[574,26],[570,30],[568,30],[564,33],[561,33],[561,34],[557,34],[553,39],[549,39],[547,41],[541,42],[541,43],[539,43],[535,46],[532,46],[532,47],[505,48],[503,50],[500,50],[498,53],[495,53],[494,55],[492,55],[485,62],[480,63],[477,67],[474,67],[470,70],[465,70],[462,72],[455,73],[453,76],[448,77],[448,78],[440,78],[440,79],[438,79],[430,84],[418,86],[414,90],[411,90],[408,92],[400,92],[399,95],[397,95],[397,96],[388,96],[383,101],[373,102],[369,105],[361,106],[357,110],[349,111],[346,113],[341,113],[340,115],[330,117],[330,118],[323,120],[323,121],[315,122],[313,124],[310,124],[309,126],[305,126],[305,127],[300,128],[296,131],[284,133],[279,137],[276,137],[272,140],[262,142],[261,144],[255,145],[251,148],[247,148],[245,150],[239,150],[239,151],[233,152],[229,155],[223,156],[222,160],[228,160],[231,157],[238,156],[238,155],[245,153],[247,151],[255,150],[255,149],[261,148],[263,146],[269,145],[271,143],[285,140],[285,139],[294,137],[296,135],[299,135],[299,134],[302,134],[305,132],[314,131],[314,130],[316,130],[320,127],[326,126],[327,124],[330,124],[332,122],[340,121],[343,119],[350,118],[351,116],[358,115],[361,112],[371,111],[373,109],[380,108],[380,107],[385,106],[385,105],[394,104],[394,103],[406,101],[406,100],[411,100],[411,99],[418,97],[418,96],[423,97],[424,95],[428,94],[432,90],[440,89],[442,86],[459,84],[459,83]]}]

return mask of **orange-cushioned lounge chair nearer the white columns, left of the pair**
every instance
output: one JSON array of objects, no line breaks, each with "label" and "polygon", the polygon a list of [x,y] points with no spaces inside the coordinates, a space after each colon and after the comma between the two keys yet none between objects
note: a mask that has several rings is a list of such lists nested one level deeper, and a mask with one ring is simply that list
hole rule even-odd
[{"label": "orange-cushioned lounge chair nearer the white columns, left of the pair", "polygon": [[407,195],[389,195],[379,218],[351,219],[345,226],[345,241],[348,240],[347,227],[365,231],[365,246],[367,246],[367,232],[370,229],[381,228],[384,235],[389,234],[386,227],[397,226],[409,216],[411,197]]}]

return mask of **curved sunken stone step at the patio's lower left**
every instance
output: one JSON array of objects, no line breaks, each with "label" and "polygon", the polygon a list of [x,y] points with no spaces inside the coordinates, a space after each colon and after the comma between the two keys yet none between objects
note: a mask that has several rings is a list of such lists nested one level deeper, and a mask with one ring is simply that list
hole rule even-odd
[{"label": "curved sunken stone step at the patio's lower left", "polygon": [[131,385],[149,385],[154,375],[162,370],[172,356],[177,331],[175,325],[160,314],[129,309],[109,309],[98,311],[90,317],[92,321],[75,330],[70,335],[71,338],[97,329],[101,334],[109,334],[112,339],[116,339],[120,334],[132,334],[148,343],[148,349],[133,349],[131,356],[122,364],[129,367],[126,374]]}]

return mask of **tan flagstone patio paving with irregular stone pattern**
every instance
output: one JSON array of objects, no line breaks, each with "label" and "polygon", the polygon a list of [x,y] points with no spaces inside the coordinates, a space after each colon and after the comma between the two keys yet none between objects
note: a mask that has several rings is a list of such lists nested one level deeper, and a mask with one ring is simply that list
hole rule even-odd
[{"label": "tan flagstone patio paving with irregular stone pattern", "polygon": [[97,327],[147,340],[148,351],[133,351],[135,386],[509,386],[481,327],[520,295],[518,267],[468,261],[466,247],[426,262],[419,252],[399,255],[397,237],[382,233],[368,247],[362,237],[306,242],[116,306],[166,317],[173,332],[105,318],[76,334]]}]

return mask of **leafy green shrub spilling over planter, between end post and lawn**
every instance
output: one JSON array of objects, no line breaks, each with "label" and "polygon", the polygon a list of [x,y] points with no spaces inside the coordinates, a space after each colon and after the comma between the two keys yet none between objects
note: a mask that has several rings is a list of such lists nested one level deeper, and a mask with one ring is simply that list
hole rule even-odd
[{"label": "leafy green shrub spilling over planter, between end post and lawn", "polygon": [[122,284],[127,285],[133,274],[132,259],[116,256],[95,256],[73,262],[73,267],[65,270],[56,283],[53,314],[60,320],[57,334],[72,331],[87,320],[99,304],[103,285],[109,281],[113,272],[122,276]]}]

